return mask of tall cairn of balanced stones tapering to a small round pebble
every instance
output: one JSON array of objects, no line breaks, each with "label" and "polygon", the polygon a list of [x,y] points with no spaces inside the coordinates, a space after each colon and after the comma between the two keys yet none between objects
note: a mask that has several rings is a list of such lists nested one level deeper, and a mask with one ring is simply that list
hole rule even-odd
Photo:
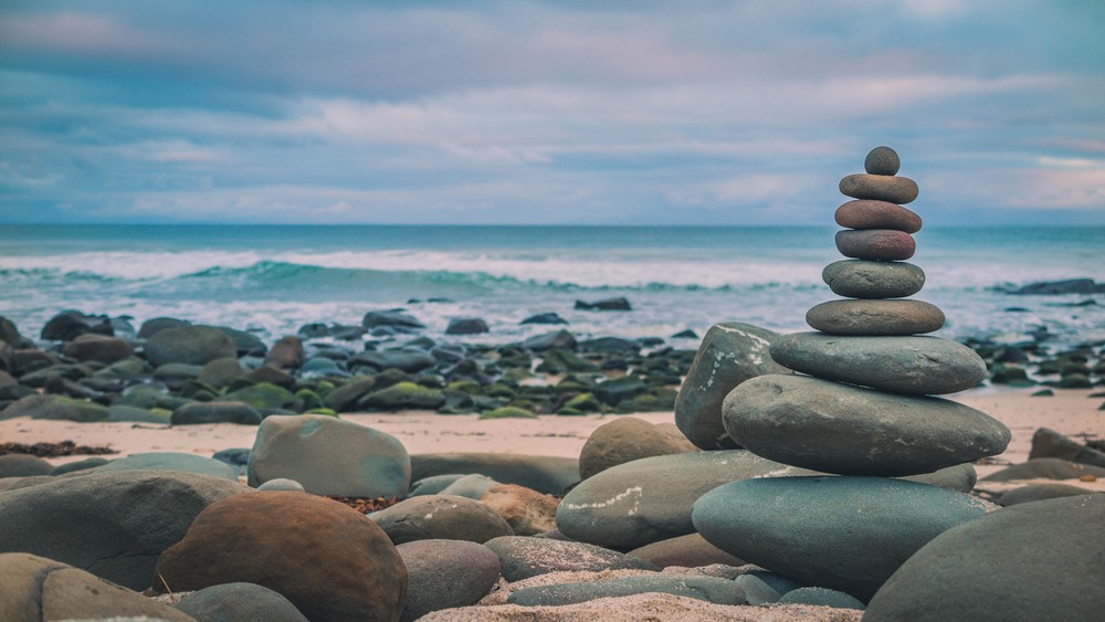
[{"label": "tall cairn of balanced stones tapering to a small round pebble", "polygon": [[809,310],[817,331],[771,344],[775,361],[797,375],[753,378],[723,403],[725,430],[740,446],[833,475],[726,484],[701,497],[692,518],[726,552],[866,602],[927,541],[996,509],[892,477],[999,454],[1010,435],[989,415],[933,397],[977,386],[986,365],[966,346],[922,336],[945,317],[904,299],[925,283],[924,272],[904,262],[922,222],[901,204],[917,197],[917,185],[896,177],[898,156],[887,147],[864,165],[865,175],[841,180],[841,192],[855,200],[835,214],[848,228],[836,247],[852,259],[823,273],[845,298]]}]

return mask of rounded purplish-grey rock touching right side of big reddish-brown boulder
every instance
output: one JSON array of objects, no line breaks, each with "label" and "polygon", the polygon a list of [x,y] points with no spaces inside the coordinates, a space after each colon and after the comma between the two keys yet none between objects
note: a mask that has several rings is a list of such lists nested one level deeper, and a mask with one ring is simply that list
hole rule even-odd
[{"label": "rounded purplish-grey rock touching right side of big reddish-brown boulder", "polygon": [[415,540],[396,547],[407,566],[407,603],[400,620],[475,604],[498,582],[498,556],[464,540]]}]

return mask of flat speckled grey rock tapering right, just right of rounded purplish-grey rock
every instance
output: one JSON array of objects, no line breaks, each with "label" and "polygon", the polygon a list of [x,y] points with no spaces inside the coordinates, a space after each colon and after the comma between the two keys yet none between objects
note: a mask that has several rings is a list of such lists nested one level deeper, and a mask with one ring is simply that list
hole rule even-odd
[{"label": "flat speckled grey rock tapering right, just right of rounded purplish-grey rock", "polygon": [[485,544],[498,556],[503,578],[511,582],[549,572],[623,568],[660,570],[643,559],[585,542],[507,536]]}]

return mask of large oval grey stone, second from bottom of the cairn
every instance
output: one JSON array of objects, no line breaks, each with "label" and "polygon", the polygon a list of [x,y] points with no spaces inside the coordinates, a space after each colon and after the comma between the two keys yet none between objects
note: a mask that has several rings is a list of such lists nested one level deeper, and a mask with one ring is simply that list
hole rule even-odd
[{"label": "large oval grey stone, second from bottom of the cairn", "polygon": [[757,455],[842,475],[930,473],[997,455],[1010,437],[1001,422],[958,402],[803,376],[754,378],[723,410],[725,429]]}]

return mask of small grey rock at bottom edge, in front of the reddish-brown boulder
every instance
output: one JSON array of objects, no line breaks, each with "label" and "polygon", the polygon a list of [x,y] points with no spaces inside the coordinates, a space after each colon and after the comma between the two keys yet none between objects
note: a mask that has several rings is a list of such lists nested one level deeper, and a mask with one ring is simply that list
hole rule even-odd
[{"label": "small grey rock at bottom edge, in front of the reddish-brown boulder", "polygon": [[199,622],[307,622],[292,601],[256,583],[222,583],[186,594],[173,605]]}]

